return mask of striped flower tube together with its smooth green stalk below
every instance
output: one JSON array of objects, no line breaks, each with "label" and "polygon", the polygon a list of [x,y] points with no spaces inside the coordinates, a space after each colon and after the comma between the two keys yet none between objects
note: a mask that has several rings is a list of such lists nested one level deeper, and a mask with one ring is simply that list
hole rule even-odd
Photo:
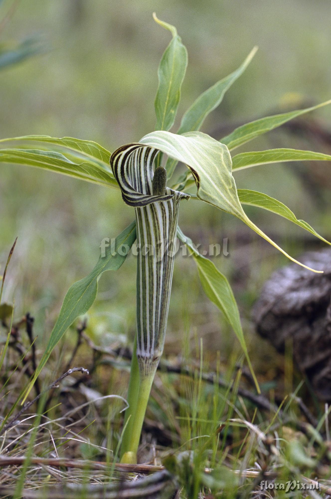
[{"label": "striped flower tube together with its smooth green stalk below", "polygon": [[166,171],[153,165],[158,150],[129,144],[111,156],[123,200],[135,207],[137,334],[122,441],[122,462],[136,462],[154,376],[163,352],[169,308],[179,201],[186,194],[166,187]]}]

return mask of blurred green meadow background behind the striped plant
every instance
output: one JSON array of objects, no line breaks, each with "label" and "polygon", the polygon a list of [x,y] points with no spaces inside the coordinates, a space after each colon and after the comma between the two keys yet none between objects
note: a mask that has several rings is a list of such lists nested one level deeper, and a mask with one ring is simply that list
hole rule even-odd
[{"label": "blurred green meadow background behind the striped plant", "polygon": [[[0,3],[1,18],[12,3]],[[330,0],[24,0],[16,2],[10,19],[0,24],[0,41],[37,34],[44,53],[0,71],[0,138],[73,136],[113,151],[152,131],[157,68],[170,39],[153,21],[153,11],[176,25],[188,50],[177,122],[191,102],[233,71],[254,45],[259,51],[253,62],[202,131],[216,136],[231,123],[331,98]],[[330,129],[330,108],[314,113],[314,118]],[[282,146],[330,152],[319,140],[286,131],[249,143],[246,149]],[[30,311],[36,317],[39,341],[46,341],[69,285],[91,270],[101,240],[120,233],[134,211],[115,190],[32,168],[0,168],[1,268],[18,236],[4,298],[15,298],[16,316]],[[330,239],[330,172],[328,163],[323,169],[271,165],[237,173],[236,182],[277,197]],[[318,241],[307,243],[306,233],[282,219],[256,210],[250,215],[294,256],[307,247],[322,247]],[[183,202],[179,222],[196,243],[229,238],[230,255],[215,263],[234,287],[251,348],[260,341],[249,321],[251,305],[264,280],[288,261],[239,221],[202,203]],[[90,334],[98,341],[132,337],[135,283],[132,256],[117,273],[101,279],[89,314]],[[229,334],[220,335],[220,329]],[[181,257],[175,264],[169,351],[178,348],[178,334],[191,337],[192,347],[201,336],[207,350],[233,349],[233,333],[204,297],[194,262]]]}]

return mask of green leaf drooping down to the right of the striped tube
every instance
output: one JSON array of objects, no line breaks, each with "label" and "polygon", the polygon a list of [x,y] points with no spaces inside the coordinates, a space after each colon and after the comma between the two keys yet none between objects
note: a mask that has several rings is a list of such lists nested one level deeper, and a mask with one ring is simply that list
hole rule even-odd
[{"label": "green leaf drooping down to the right of the striped tube", "polygon": [[197,265],[200,281],[207,297],[212,301],[224,314],[226,320],[231,325],[236,333],[240,345],[245,353],[252,376],[254,377],[255,385],[259,391],[259,385],[255,377],[251,361],[249,359],[247,346],[245,342],[244,332],[241,327],[240,315],[237,302],[233,295],[231,286],[227,278],[215,267],[214,263],[202,256],[193,246],[191,239],[177,229],[177,237],[179,241],[184,243],[187,248],[192,250],[194,261]]}]

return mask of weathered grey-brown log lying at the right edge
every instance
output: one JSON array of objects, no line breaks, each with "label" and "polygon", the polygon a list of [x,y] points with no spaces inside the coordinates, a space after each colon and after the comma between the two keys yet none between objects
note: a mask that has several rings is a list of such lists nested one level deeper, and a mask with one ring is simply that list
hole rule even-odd
[{"label": "weathered grey-brown log lying at the right edge", "polygon": [[299,258],[323,274],[291,264],[265,283],[252,316],[257,332],[293,356],[321,400],[331,401],[331,250]]}]

